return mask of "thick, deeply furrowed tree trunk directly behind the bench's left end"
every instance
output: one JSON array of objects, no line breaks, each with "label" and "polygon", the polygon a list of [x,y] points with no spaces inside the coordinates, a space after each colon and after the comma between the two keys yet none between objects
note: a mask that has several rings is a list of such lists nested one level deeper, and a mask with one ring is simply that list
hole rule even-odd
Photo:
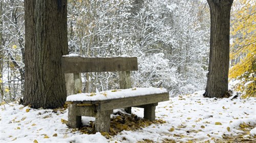
[{"label": "thick, deeply furrowed tree trunk directly behind the bench's left end", "polygon": [[57,108],[66,101],[61,55],[68,53],[67,0],[25,1],[24,105]]}]

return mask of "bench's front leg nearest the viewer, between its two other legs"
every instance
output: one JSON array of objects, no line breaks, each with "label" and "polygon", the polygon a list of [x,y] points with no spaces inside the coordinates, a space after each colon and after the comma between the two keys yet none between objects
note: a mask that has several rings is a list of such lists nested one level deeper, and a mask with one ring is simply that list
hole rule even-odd
[{"label": "bench's front leg nearest the viewer, between its two other legs", "polygon": [[113,110],[97,111],[95,117],[95,130],[96,132],[109,132],[110,131],[110,115]]}]

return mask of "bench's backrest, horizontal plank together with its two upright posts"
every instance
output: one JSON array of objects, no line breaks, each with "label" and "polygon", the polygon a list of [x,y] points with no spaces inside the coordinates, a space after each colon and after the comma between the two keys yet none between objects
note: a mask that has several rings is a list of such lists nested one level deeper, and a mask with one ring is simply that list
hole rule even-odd
[{"label": "bench's backrest, horizontal plank together with its two upright posts", "polygon": [[73,73],[73,79],[68,79],[66,76],[67,93],[71,95],[81,91],[80,73],[84,72],[116,71],[119,74],[120,89],[132,88],[130,71],[138,70],[138,62],[137,57],[84,58],[81,56],[63,56],[61,67],[65,73]]}]

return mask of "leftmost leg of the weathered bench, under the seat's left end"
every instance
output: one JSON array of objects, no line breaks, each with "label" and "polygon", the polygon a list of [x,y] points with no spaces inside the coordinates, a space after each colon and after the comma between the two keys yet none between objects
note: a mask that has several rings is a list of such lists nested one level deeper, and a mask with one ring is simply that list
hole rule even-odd
[{"label": "leftmost leg of the weathered bench, under the seat's left end", "polygon": [[78,109],[76,105],[69,105],[68,112],[68,126],[71,128],[79,128],[81,126],[81,116],[78,115]]}]

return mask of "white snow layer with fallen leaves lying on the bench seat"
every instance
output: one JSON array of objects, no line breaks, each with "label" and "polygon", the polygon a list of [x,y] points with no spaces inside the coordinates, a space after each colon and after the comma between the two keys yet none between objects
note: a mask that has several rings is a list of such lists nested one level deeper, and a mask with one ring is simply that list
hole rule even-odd
[{"label": "white snow layer with fallen leaves lying on the bench seat", "polygon": [[148,94],[160,94],[166,92],[166,89],[162,88],[132,88],[124,90],[103,91],[99,93],[80,93],[68,96],[67,101],[97,101],[132,96],[142,96]]}]

